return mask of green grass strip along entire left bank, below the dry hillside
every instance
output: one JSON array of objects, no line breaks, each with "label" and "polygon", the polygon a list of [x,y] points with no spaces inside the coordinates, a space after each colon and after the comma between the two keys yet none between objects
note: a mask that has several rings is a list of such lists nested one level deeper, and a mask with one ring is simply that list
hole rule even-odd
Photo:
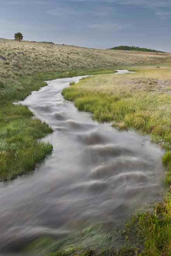
[{"label": "green grass strip along entire left bank, below the dry hillside", "polygon": [[114,73],[114,69],[47,72],[18,77],[16,84],[0,84],[0,181],[28,173],[52,152],[52,145],[38,141],[53,132],[47,124],[33,118],[26,106],[13,104],[31,91],[47,85],[44,80],[87,74]]}]

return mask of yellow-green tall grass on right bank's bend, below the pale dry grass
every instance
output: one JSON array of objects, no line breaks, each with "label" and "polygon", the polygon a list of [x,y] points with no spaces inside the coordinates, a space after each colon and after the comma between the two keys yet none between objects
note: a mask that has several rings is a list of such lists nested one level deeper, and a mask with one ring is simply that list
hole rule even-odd
[{"label": "yellow-green tall grass on right bank's bend, below the pale dry grass", "polygon": [[169,112],[157,104],[171,104],[171,96],[148,93],[111,95],[81,89],[81,82],[62,91],[79,110],[89,111],[98,121],[115,121],[151,134],[158,142],[171,143]]}]

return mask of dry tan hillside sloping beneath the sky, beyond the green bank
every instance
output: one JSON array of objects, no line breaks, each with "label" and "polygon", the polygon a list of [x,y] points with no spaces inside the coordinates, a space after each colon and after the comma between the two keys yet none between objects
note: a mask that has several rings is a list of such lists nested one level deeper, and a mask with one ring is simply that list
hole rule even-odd
[{"label": "dry tan hillside sloping beneath the sky, beyond the green bank", "polygon": [[[128,54],[129,53],[129,54]],[[88,49],[41,42],[0,39],[0,98],[14,90],[21,77],[37,73],[92,70],[135,64],[159,64],[168,54]]]}]

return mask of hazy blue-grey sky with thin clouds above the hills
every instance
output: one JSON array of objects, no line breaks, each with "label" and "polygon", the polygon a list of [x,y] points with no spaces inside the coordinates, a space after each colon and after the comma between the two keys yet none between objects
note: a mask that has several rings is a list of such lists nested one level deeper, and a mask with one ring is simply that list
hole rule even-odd
[{"label": "hazy blue-grey sky with thin clouds above the hills", "polygon": [[171,0],[0,0],[0,37],[171,52]]}]

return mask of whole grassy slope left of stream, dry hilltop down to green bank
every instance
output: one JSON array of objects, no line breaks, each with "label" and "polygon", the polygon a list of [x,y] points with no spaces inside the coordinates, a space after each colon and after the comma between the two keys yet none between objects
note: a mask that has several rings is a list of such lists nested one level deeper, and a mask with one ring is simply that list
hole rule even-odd
[{"label": "whole grassy slope left of stream, dry hilltop down to green bank", "polygon": [[0,181],[36,167],[52,145],[37,142],[52,129],[13,102],[45,86],[44,80],[114,73],[118,65],[165,63],[170,54],[87,49],[0,39]]}]

